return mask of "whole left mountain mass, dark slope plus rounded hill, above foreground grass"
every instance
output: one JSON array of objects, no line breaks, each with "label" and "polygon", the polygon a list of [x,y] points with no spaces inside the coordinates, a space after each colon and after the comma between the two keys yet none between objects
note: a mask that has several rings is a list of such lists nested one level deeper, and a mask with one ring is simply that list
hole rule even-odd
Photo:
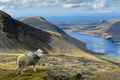
[{"label": "whole left mountain mass, dark slope plus rounded hill, above foreground grass", "polygon": [[0,36],[1,50],[42,48],[67,53],[85,47],[84,43],[42,17],[26,17],[18,21],[3,11],[0,11]]}]

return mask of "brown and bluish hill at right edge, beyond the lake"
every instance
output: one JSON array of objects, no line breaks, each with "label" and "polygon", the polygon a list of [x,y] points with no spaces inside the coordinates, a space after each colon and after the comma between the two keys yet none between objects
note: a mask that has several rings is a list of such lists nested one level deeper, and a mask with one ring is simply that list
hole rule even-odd
[{"label": "brown and bluish hill at right edge, beyond the lake", "polygon": [[[91,28],[90,28],[91,29]],[[120,19],[103,20],[99,25],[93,27],[93,30],[88,29],[82,33],[103,37],[112,40],[113,42],[120,42]]]}]

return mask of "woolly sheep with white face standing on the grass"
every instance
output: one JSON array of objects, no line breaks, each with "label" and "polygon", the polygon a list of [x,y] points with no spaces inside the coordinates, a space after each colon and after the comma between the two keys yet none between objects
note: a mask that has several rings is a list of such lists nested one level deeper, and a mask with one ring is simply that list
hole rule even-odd
[{"label": "woolly sheep with white face standing on the grass", "polygon": [[17,58],[16,62],[16,74],[22,74],[23,69],[27,66],[32,66],[33,71],[36,72],[36,64],[39,62],[40,58],[44,56],[44,52],[41,49],[38,49],[36,52],[29,52],[26,55],[20,55]]}]

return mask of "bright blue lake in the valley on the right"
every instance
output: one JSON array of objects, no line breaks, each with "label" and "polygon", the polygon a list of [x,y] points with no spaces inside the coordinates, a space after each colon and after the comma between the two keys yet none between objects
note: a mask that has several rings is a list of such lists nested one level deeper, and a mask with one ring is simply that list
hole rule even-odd
[{"label": "bright blue lake in the valley on the right", "polygon": [[104,53],[105,55],[120,57],[120,45],[112,41],[94,37],[89,35],[80,34],[79,32],[67,32],[70,36],[79,39],[86,43],[88,50],[92,52]]}]

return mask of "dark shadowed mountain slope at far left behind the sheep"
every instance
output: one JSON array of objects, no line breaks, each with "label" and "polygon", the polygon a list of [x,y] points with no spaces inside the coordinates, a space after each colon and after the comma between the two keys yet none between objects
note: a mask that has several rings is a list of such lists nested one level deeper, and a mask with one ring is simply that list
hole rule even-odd
[{"label": "dark shadowed mountain slope at far left behind the sheep", "polygon": [[50,48],[49,33],[15,20],[2,11],[0,11],[0,36],[1,50]]}]

